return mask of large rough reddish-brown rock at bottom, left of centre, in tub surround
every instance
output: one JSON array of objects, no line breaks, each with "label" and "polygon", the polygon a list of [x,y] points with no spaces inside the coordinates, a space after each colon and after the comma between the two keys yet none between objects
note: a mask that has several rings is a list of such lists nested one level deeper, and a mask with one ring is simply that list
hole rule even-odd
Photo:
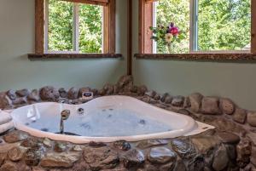
[{"label": "large rough reddish-brown rock at bottom, left of centre, in tub surround", "polygon": [[84,148],[84,160],[92,170],[115,168],[119,163],[118,153],[108,147]]}]

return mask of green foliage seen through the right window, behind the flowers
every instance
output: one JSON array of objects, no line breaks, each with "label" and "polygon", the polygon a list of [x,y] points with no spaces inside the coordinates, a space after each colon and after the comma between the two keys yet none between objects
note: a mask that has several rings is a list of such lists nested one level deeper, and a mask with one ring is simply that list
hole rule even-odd
[{"label": "green foliage seen through the right window, behind the flowers", "polygon": [[[241,50],[251,40],[251,0],[198,0],[199,50]],[[174,22],[186,33],[174,43],[173,53],[189,52],[189,0],[160,0],[157,25]],[[157,53],[166,53],[166,45],[157,44]]]}]

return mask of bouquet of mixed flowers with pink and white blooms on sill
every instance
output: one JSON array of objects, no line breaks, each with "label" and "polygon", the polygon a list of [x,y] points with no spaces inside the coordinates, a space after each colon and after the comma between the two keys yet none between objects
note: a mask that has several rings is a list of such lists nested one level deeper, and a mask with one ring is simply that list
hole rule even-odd
[{"label": "bouquet of mixed flowers with pink and white blooms on sill", "polygon": [[166,45],[167,51],[172,53],[172,44],[180,43],[185,35],[183,31],[179,31],[178,27],[172,22],[169,26],[150,26],[149,29],[153,31],[154,35],[151,37],[155,42],[162,42]]}]

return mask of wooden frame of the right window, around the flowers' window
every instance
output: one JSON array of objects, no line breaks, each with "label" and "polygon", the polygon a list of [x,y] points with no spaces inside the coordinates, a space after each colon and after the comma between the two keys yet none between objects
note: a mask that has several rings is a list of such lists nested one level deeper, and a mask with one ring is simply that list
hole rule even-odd
[{"label": "wooden frame of the right window, around the flowers' window", "polygon": [[[153,40],[150,37],[153,35],[153,32],[149,30],[149,26],[153,26],[153,14],[154,14],[154,5],[153,3],[157,0],[139,0],[139,54],[153,54]],[[190,10],[191,10],[190,0]],[[251,51],[191,51],[190,54],[256,54],[256,1],[251,0]],[[191,18],[192,17],[192,18]],[[193,20],[193,16],[190,13],[190,21]],[[190,22],[190,28],[193,23]],[[191,29],[190,29],[191,30]],[[193,37],[192,31],[192,37]],[[191,39],[190,39],[191,42]],[[190,49],[195,49],[192,43],[189,45]],[[180,54],[182,55],[182,54]],[[137,55],[140,56],[140,55]]]}]

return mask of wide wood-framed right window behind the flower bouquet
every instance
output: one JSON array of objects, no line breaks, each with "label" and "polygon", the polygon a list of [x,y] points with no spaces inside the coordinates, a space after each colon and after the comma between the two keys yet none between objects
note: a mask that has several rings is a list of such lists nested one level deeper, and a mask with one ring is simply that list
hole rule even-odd
[{"label": "wide wood-framed right window behind the flower bouquet", "polygon": [[251,0],[140,0],[140,53],[166,54],[164,43],[150,39],[149,26],[171,22],[184,33],[172,43],[172,54],[253,51],[253,5]]}]

